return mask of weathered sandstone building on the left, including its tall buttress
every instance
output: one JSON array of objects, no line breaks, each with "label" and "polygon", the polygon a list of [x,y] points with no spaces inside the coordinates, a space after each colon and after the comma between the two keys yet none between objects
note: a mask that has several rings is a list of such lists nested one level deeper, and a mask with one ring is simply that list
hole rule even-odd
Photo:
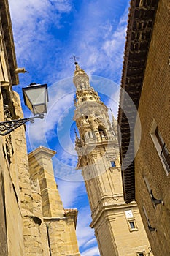
[{"label": "weathered sandstone building on the left, including its tall buttress", "polygon": [[[0,1],[0,122],[23,118],[7,0]],[[80,255],[77,209],[64,209],[48,148],[28,154],[25,127],[4,135],[0,124],[0,255]],[[35,166],[36,164],[36,166]]]}]

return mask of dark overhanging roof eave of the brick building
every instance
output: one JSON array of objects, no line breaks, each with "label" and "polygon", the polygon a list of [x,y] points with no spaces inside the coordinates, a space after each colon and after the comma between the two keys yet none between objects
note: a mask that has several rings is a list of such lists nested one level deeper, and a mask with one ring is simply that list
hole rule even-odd
[{"label": "dark overhanging roof eave of the brick building", "polygon": [[[127,110],[127,108],[131,113],[131,105],[126,105],[124,99],[125,92],[128,93],[136,109],[138,109],[157,7],[158,0],[147,1],[146,5],[142,5],[142,1],[132,0],[129,9],[120,90],[119,106],[121,106],[121,108],[119,107],[118,111],[118,123],[121,130],[121,138],[119,135],[121,145],[120,162],[122,165],[123,159],[128,151],[129,144],[127,141],[131,136],[130,128],[128,128],[128,118],[125,116],[125,113],[123,113],[123,109]],[[135,120],[136,116],[133,117],[134,125]],[[123,170],[122,167],[123,192],[125,202],[127,203],[135,200],[134,171],[134,161],[131,165],[126,167],[125,170]]]}]

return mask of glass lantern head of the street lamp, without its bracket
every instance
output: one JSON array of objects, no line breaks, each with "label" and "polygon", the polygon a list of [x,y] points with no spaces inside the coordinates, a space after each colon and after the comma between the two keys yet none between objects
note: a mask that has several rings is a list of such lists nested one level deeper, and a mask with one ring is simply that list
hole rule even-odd
[{"label": "glass lantern head of the street lamp, without its bracket", "polygon": [[47,113],[47,84],[31,83],[30,86],[23,88],[23,99],[34,115]]}]

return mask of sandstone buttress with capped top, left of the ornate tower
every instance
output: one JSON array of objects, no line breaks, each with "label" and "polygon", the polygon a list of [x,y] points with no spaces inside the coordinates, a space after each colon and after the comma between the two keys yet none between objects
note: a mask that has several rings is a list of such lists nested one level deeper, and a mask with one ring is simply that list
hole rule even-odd
[{"label": "sandstone buttress with capped top, left of the ornate tower", "polygon": [[[64,209],[53,173],[55,151],[40,146],[28,154],[31,178],[39,182],[42,227],[51,255],[80,255],[75,233],[77,209]],[[37,197],[37,195],[36,195]]]}]

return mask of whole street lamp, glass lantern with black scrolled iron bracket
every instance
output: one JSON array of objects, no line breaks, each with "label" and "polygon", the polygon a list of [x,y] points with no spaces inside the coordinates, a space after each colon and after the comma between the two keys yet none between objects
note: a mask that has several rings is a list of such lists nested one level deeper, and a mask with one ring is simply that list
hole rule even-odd
[{"label": "whole street lamp, glass lantern with black scrolled iron bracket", "polygon": [[34,117],[0,122],[0,135],[7,135],[28,121],[34,123],[34,119],[44,118],[45,113],[47,113],[48,102],[47,84],[31,83],[23,88],[23,99],[25,105],[34,113]]}]

